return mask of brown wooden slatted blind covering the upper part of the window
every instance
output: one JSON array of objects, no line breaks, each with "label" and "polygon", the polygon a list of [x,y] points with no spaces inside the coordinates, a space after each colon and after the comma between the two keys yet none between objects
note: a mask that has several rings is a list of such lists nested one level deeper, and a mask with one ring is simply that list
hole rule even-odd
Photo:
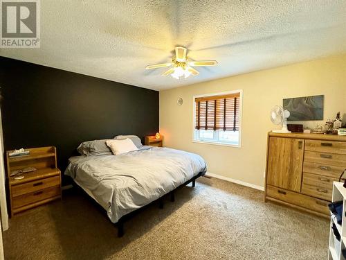
[{"label": "brown wooden slatted blind covering the upper part of the window", "polygon": [[239,130],[240,94],[195,98],[195,128],[200,130]]}]

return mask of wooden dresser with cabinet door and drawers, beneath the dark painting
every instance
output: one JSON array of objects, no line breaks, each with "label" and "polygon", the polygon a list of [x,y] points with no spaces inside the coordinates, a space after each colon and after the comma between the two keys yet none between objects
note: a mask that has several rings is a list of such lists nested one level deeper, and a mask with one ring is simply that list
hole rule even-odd
[{"label": "wooden dresser with cabinet door and drawers, beneath the dark painting", "polygon": [[265,200],[329,217],[333,182],[345,168],[345,136],[270,132]]}]

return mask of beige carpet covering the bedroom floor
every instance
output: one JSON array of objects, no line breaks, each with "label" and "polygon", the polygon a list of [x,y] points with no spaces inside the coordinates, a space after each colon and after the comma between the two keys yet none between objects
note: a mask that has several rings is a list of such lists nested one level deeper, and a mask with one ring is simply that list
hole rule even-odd
[{"label": "beige carpet covering the bedroom floor", "polygon": [[164,209],[150,205],[125,236],[89,198],[27,211],[3,232],[6,259],[327,259],[329,222],[271,202],[262,192],[200,178]]}]

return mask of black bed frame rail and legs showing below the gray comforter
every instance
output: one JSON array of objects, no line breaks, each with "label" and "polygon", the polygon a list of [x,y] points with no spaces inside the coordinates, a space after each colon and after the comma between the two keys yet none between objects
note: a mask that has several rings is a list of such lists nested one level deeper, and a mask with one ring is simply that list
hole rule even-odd
[{"label": "black bed frame rail and legs showing below the gray comforter", "polygon": [[[181,187],[184,187],[186,185],[188,185],[190,182],[192,182],[192,187],[195,187],[196,185],[196,179],[198,177],[201,177],[202,173],[197,174],[196,176],[192,177],[190,180],[188,180],[187,182],[181,184],[179,187],[176,187],[176,189],[174,189],[173,191],[170,191],[169,193],[161,196],[160,198],[158,198],[157,200],[154,200],[153,202],[149,203],[149,205],[151,205],[152,203],[158,202],[158,207],[160,209],[163,209],[163,197],[166,195],[170,196],[170,200],[172,202],[174,202],[174,191],[176,191],[177,189],[180,189]],[[129,218],[131,218],[132,216],[134,216],[135,214],[137,214],[140,210],[145,209],[145,207],[147,207],[148,205],[145,205],[144,207],[141,207],[139,209],[136,209],[134,211],[131,211],[129,214],[126,214],[124,216],[122,216],[117,223],[114,223],[114,225],[116,225],[116,227],[118,227],[118,237],[122,237],[124,236],[124,223],[126,220],[128,220]]]}]

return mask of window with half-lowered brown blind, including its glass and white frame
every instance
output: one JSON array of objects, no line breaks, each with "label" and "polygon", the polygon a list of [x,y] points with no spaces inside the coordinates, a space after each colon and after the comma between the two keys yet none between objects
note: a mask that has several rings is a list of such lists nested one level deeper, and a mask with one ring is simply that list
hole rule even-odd
[{"label": "window with half-lowered brown blind, including its glass and white frame", "polygon": [[240,147],[242,90],[194,96],[194,141]]}]

